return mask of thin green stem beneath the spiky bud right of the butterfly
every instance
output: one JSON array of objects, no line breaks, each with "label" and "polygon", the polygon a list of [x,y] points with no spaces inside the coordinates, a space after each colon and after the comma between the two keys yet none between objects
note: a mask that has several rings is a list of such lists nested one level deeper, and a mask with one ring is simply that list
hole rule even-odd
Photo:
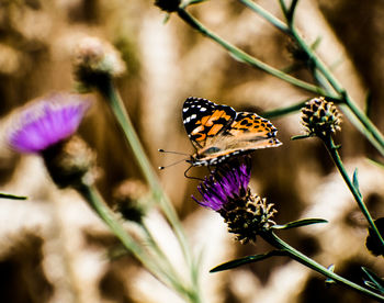
[{"label": "thin green stem beneath the spiky bud right of the butterfly", "polygon": [[375,236],[377,237],[377,239],[380,239],[382,246],[384,247],[383,237],[379,233],[377,227],[374,224],[373,218],[372,218],[370,212],[368,211],[362,197],[358,192],[358,189],[353,186],[351,179],[349,178],[349,176],[348,176],[348,173],[346,171],[346,168],[345,168],[345,166],[343,166],[343,164],[341,161],[338,148],[337,148],[337,146],[335,146],[332,137],[330,135],[328,135],[328,136],[324,136],[324,137],[320,137],[320,138],[323,139],[325,146],[327,147],[328,153],[330,154],[330,156],[331,156],[336,167],[338,168],[339,172],[342,176],[342,179],[345,180],[345,182],[347,183],[349,190],[351,191],[354,200],[358,202],[358,205],[359,205],[361,212],[364,214],[364,216],[365,216],[366,221],[369,222],[371,228],[373,229]]}]

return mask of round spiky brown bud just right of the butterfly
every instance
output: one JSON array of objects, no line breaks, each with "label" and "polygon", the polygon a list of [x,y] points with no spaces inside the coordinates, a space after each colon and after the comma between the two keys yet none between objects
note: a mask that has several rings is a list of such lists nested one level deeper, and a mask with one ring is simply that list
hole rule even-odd
[{"label": "round spiky brown bud just right of the butterfly", "polygon": [[302,122],[309,135],[327,136],[340,131],[341,114],[332,102],[314,98],[302,109]]}]

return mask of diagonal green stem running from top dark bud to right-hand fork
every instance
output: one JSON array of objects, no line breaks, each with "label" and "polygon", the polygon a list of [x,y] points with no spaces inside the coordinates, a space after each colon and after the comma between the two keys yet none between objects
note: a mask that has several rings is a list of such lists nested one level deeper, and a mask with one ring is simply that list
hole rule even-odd
[{"label": "diagonal green stem running from top dark bud to right-hand fork", "polygon": [[196,19],[194,19],[191,14],[189,14],[185,10],[179,9],[178,10],[179,16],[185,21],[189,25],[191,25],[193,29],[197,30],[203,35],[207,36],[208,38],[213,40],[221,46],[223,46],[225,49],[227,49],[231,56],[234,56],[239,61],[249,64],[250,66],[261,69],[279,79],[282,79],[291,85],[294,85],[296,87],[300,87],[302,89],[305,89],[307,91],[310,91],[316,94],[325,94],[326,92],[314,85],[307,83],[305,81],[302,81],[300,79],[296,79],[279,69],[275,69],[268,64],[264,64],[263,61],[250,56],[249,54],[245,53],[240,48],[236,47],[235,45],[226,42],[215,33],[211,32],[208,29],[206,29],[202,23],[200,23]]}]

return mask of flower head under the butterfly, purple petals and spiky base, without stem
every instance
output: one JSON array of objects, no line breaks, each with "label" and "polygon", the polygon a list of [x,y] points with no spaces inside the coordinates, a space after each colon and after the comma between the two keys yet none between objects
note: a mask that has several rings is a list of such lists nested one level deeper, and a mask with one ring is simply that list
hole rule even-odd
[{"label": "flower head under the butterfly, purple petals and spiky base, without stem", "polygon": [[237,159],[217,167],[197,187],[202,200],[192,197],[199,204],[218,212],[228,225],[229,233],[237,235],[242,244],[256,242],[256,236],[275,223],[271,220],[276,212],[266,199],[251,194],[250,160]]}]

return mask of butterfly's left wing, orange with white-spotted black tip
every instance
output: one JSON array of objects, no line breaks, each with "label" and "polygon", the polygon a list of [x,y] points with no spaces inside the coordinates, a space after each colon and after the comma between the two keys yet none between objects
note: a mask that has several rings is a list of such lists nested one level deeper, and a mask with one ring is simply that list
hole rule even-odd
[{"label": "butterfly's left wing, orange with white-spotted black tip", "polygon": [[224,132],[234,122],[236,111],[210,100],[190,97],[182,109],[183,124],[196,149],[203,148],[207,139]]}]

